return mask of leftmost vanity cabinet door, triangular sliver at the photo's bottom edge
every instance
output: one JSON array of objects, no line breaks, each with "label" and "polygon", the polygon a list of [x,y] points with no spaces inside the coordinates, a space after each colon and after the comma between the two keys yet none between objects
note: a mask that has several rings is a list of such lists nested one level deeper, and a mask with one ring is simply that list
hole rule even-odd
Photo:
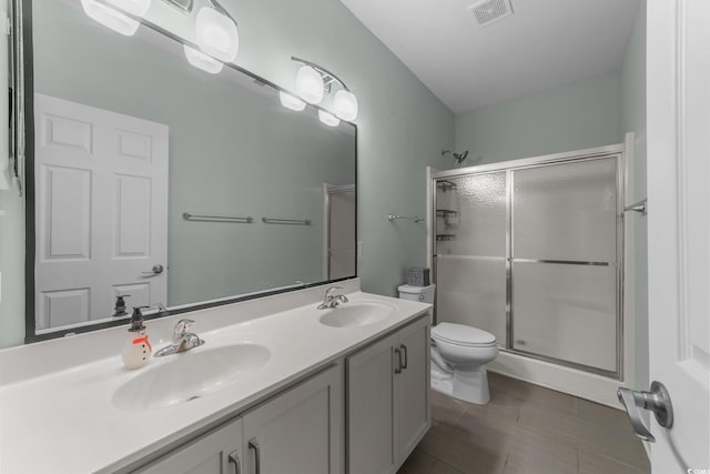
[{"label": "leftmost vanity cabinet door, triangular sliver at the photo's bottom edge", "polygon": [[140,468],[141,474],[242,474],[242,420],[237,418]]}]

